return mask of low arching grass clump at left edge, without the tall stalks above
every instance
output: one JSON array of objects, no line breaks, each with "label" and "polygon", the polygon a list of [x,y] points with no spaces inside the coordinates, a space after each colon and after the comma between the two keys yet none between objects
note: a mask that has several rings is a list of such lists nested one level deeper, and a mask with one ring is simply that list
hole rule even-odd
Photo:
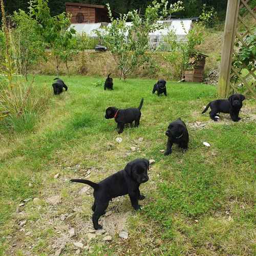
[{"label": "low arching grass clump at left edge, without the tall stalks above", "polygon": [[51,98],[46,88],[37,89],[22,79],[0,82],[0,126],[15,132],[31,132]]}]

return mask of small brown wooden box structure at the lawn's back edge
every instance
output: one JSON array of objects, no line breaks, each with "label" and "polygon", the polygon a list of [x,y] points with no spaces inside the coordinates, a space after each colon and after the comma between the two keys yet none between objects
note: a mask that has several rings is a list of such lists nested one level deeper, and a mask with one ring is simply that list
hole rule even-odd
[{"label": "small brown wooden box structure at the lawn's back edge", "polygon": [[202,82],[204,75],[205,58],[207,55],[198,54],[190,57],[191,69],[185,70],[184,78],[186,82]]}]

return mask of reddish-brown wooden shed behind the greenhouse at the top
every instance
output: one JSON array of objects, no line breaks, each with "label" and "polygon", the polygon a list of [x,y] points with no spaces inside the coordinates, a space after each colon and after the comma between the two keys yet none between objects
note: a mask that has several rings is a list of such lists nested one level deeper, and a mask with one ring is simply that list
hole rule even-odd
[{"label": "reddish-brown wooden shed behind the greenhouse at the top", "polygon": [[72,24],[110,22],[108,10],[103,5],[66,3],[66,12],[72,14]]}]

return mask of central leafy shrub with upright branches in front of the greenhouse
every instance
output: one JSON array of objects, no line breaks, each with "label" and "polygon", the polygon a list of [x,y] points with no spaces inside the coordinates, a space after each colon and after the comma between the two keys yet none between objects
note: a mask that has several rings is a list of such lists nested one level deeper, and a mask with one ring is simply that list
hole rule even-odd
[{"label": "central leafy shrub with upright branches in front of the greenhouse", "polygon": [[[149,34],[163,28],[163,24],[157,23],[163,16],[183,9],[182,2],[171,4],[167,9],[168,1],[162,0],[160,3],[153,1],[148,5],[145,15],[142,17],[138,10],[133,10],[127,14],[114,18],[110,5],[107,4],[111,26],[105,27],[104,32],[97,34],[104,46],[112,53],[120,71],[120,79],[125,79],[145,61],[145,52],[149,48]],[[127,24],[131,20],[131,25]]]}]

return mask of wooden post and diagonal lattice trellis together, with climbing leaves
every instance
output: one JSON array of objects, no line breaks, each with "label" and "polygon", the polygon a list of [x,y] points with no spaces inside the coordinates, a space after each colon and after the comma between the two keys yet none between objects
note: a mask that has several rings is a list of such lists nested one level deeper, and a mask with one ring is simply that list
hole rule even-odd
[{"label": "wooden post and diagonal lattice trellis together, with climbing leaves", "polygon": [[255,56],[248,65],[242,62],[239,68],[234,65],[239,57],[239,49],[248,49],[253,44],[247,38],[256,35],[255,9],[255,6],[250,7],[250,0],[228,0],[218,83],[218,94],[221,97],[241,89],[243,94],[256,97]]}]

